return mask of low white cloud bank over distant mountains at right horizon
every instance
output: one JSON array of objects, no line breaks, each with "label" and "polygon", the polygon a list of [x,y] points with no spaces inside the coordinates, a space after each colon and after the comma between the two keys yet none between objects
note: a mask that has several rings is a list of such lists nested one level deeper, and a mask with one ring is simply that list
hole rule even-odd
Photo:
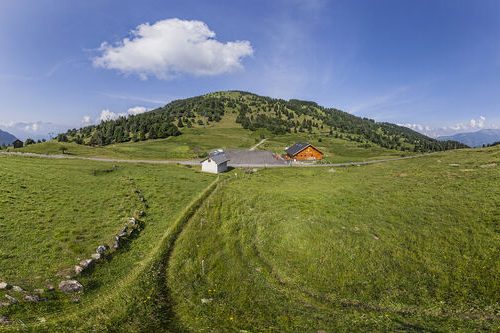
[{"label": "low white cloud bank over distant mountains at right horizon", "polygon": [[474,132],[484,128],[491,128],[491,129],[500,128],[500,124],[488,122],[486,121],[486,117],[484,116],[479,116],[479,118],[477,119],[471,119],[467,122],[457,123],[451,126],[435,127],[435,128],[430,126],[425,126],[422,124],[410,124],[410,123],[398,124],[398,125],[411,128],[415,131],[418,131],[420,133],[423,133],[431,137],[452,135],[461,132]]}]

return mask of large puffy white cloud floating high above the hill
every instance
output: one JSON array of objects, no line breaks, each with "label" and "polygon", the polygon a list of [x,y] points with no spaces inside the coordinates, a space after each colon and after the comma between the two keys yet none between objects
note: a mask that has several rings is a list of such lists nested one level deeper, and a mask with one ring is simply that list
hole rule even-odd
[{"label": "large puffy white cloud floating high above the hill", "polygon": [[229,73],[241,69],[242,58],[253,54],[249,41],[219,42],[204,22],[177,18],[141,24],[114,45],[102,43],[100,51],[94,66],[142,79]]}]

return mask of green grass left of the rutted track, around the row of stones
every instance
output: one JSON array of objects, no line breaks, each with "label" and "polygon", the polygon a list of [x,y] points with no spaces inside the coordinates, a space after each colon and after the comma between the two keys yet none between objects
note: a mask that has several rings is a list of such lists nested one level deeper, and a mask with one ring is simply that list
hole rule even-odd
[{"label": "green grass left of the rutted track, around the row of stones", "polygon": [[[79,278],[85,286],[79,303],[58,293],[47,294],[49,302],[0,307],[0,315],[36,331],[56,327],[106,331],[117,322],[127,322],[134,330],[138,330],[135,325],[162,325],[164,314],[158,308],[166,301],[156,284],[163,247],[186,207],[215,178],[185,167],[150,165],[118,165],[114,172],[93,175],[93,170],[110,166],[0,157],[0,211],[4,217],[0,220],[0,280],[20,283],[28,290],[44,287],[39,283],[54,279],[57,269],[75,264],[77,257],[88,257],[98,244],[111,241],[124,218],[137,207],[135,189],[142,191],[148,204],[140,236],[92,274]],[[2,301],[3,294],[0,292]],[[132,312],[141,316],[129,318]],[[20,326],[0,330],[9,328]]]}]

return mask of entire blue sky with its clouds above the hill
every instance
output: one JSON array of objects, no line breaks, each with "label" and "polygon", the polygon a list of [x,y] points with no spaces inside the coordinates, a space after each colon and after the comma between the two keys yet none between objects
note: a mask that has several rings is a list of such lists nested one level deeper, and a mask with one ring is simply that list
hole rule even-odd
[{"label": "entire blue sky with its clouds above the hill", "polygon": [[496,0],[2,0],[0,128],[36,137],[231,89],[430,135],[498,128],[499,13]]}]

